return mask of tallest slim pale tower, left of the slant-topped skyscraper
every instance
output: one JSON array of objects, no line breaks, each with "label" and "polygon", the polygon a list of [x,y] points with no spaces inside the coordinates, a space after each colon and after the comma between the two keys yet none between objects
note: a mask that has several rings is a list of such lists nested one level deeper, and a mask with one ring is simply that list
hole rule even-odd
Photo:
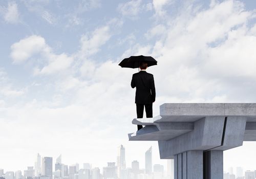
[{"label": "tallest slim pale tower, left of the slant-topped skyscraper", "polygon": [[125,148],[123,145],[120,145],[117,150],[117,176],[122,179],[121,172],[126,168],[125,165]]}]

